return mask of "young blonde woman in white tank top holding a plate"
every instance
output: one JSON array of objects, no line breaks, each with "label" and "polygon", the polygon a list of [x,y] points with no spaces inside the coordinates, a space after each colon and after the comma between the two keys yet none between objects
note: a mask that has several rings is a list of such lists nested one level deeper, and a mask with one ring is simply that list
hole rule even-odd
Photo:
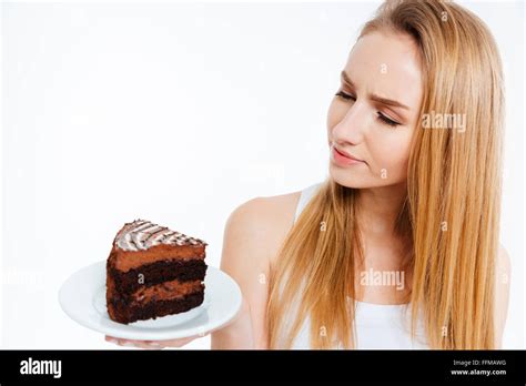
[{"label": "young blonde woman in white tank top holding a plate", "polygon": [[473,13],[385,2],[328,109],[328,177],[230,216],[221,268],[244,303],[212,348],[499,347],[503,84]]}]

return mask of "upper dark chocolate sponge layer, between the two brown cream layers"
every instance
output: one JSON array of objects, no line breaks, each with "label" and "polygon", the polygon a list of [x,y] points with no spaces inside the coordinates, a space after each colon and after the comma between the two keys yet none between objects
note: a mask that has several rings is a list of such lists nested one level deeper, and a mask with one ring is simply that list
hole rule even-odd
[{"label": "upper dark chocolate sponge layer, between the two brown cream layers", "polygon": [[205,274],[206,264],[202,260],[160,261],[128,272],[117,270],[111,258],[108,261],[108,277],[112,278],[121,296],[131,294],[140,287],[148,287],[166,281],[203,281]]}]

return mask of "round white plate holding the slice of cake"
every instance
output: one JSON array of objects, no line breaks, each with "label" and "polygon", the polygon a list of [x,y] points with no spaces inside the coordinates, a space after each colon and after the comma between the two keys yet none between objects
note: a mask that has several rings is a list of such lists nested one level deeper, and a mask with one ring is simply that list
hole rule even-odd
[{"label": "round white plate holding the slice of cake", "polygon": [[139,341],[175,339],[205,333],[229,323],[241,308],[241,290],[232,277],[209,266],[204,301],[185,313],[138,321],[113,322],[105,306],[105,261],[72,274],[59,291],[62,309],[84,327],[105,335]]}]

